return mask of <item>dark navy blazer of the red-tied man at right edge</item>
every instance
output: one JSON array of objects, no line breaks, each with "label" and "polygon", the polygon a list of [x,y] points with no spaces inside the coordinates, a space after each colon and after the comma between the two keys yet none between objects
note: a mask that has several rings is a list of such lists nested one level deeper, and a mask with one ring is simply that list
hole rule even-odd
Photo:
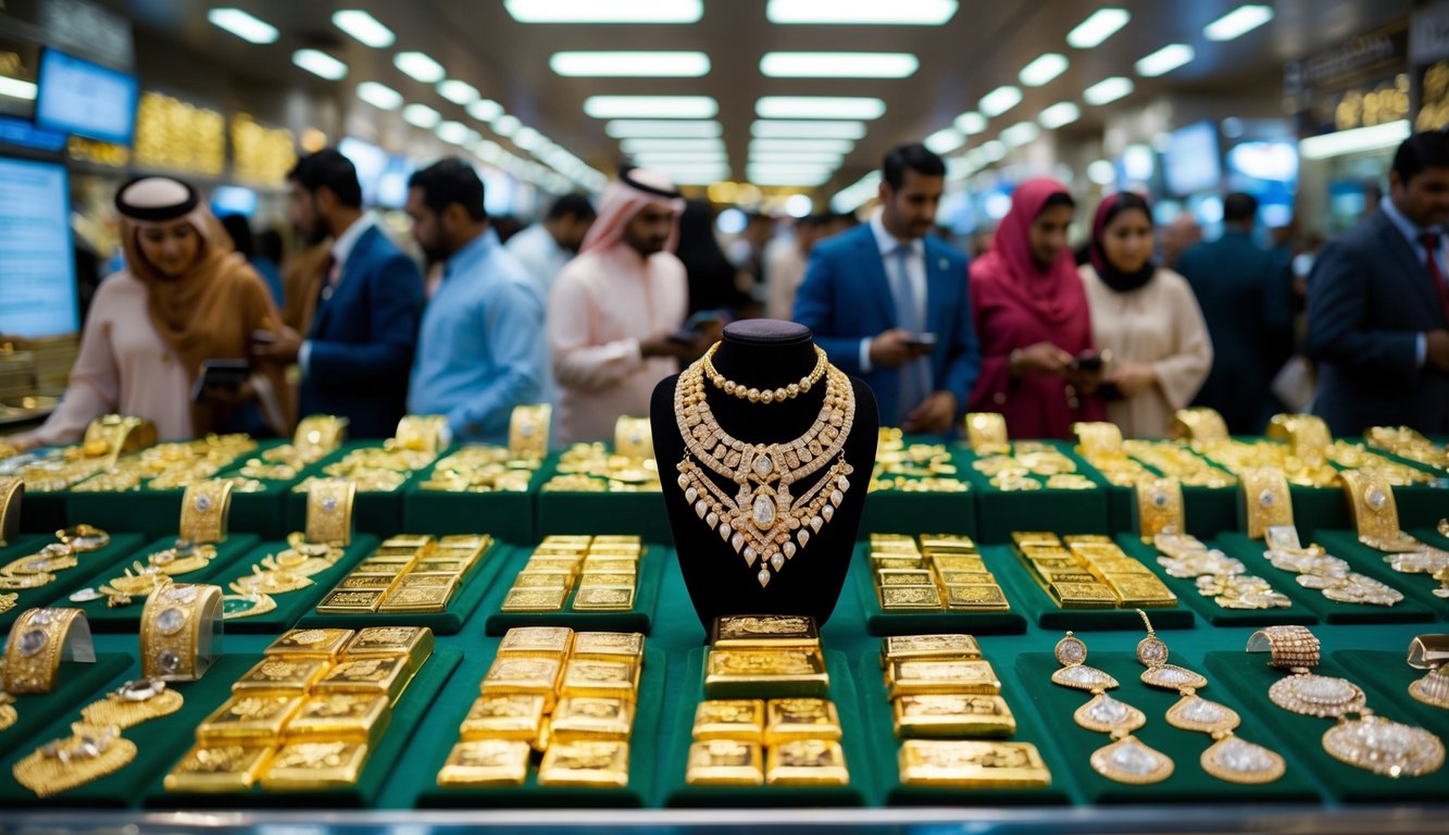
[{"label": "dark navy blazer of the red-tied man at right edge", "polygon": [[1449,432],[1449,374],[1420,368],[1416,357],[1419,333],[1442,328],[1449,322],[1424,258],[1382,212],[1333,238],[1308,274],[1313,413],[1335,435],[1401,423]]}]

